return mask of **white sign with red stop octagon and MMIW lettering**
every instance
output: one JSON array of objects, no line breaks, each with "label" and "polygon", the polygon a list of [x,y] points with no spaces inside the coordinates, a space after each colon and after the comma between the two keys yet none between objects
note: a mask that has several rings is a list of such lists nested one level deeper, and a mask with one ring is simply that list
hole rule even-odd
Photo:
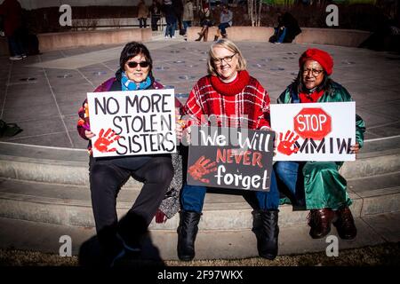
[{"label": "white sign with red stop octagon and MMIW lettering", "polygon": [[356,103],[271,105],[274,161],[355,161]]}]

